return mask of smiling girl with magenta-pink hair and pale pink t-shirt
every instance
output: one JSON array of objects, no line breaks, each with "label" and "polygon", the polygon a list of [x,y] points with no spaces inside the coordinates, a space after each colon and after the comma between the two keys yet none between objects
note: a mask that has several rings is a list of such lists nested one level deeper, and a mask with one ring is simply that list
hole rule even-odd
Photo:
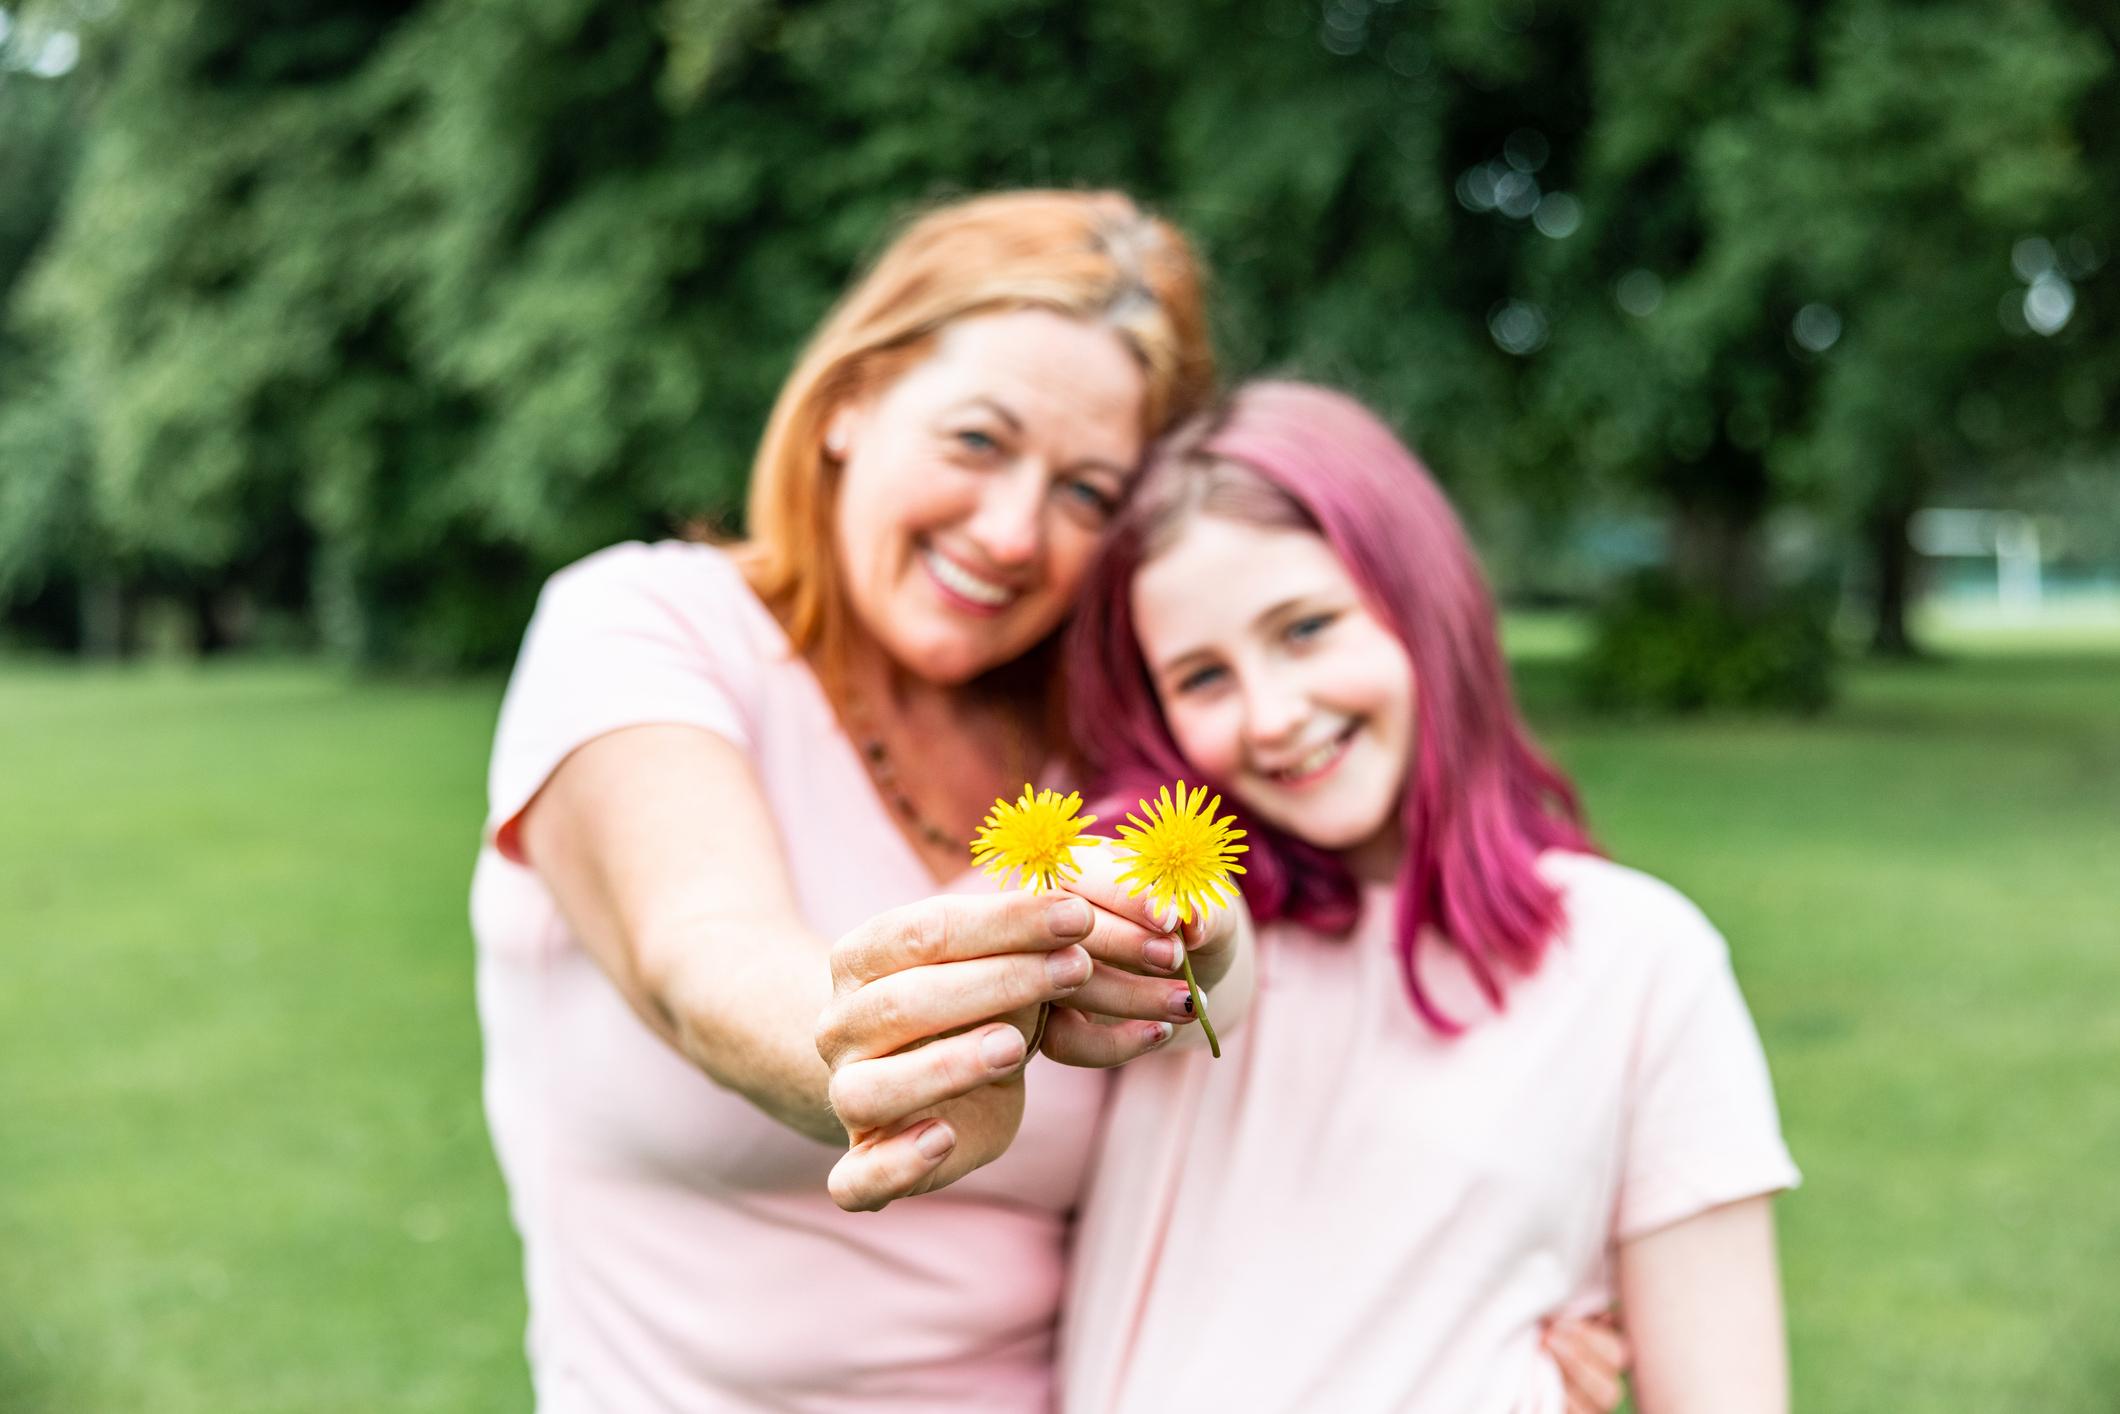
[{"label": "smiling girl with magenta-pink hair and pale pink t-shirt", "polygon": [[1618,1297],[1643,1414],[1785,1410],[1796,1168],[1728,950],[1590,844],[1391,430],[1251,384],[1179,432],[1066,668],[1109,795],[1236,806],[1259,939],[1227,1058],[1117,1081],[1064,1408],[1588,1408],[1541,1329]]}]

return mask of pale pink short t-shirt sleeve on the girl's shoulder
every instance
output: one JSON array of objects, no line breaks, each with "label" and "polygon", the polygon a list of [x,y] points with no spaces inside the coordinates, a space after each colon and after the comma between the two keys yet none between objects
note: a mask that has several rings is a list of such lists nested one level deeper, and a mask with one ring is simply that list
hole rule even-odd
[{"label": "pale pink short t-shirt sleeve on the girl's shoulder", "polygon": [[1630,1088],[1622,1242],[1798,1183],[1730,950],[1692,905],[1673,903]]}]

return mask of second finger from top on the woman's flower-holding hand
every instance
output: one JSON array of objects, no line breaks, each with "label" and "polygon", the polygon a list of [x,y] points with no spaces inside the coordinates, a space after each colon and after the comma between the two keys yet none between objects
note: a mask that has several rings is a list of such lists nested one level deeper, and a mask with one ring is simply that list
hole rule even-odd
[{"label": "second finger from top on the woman's flower-holding hand", "polygon": [[825,1007],[816,1026],[816,1054],[833,1068],[888,1056],[914,1041],[1068,996],[1090,979],[1090,954],[1066,945],[1047,954],[971,958],[890,973]]}]

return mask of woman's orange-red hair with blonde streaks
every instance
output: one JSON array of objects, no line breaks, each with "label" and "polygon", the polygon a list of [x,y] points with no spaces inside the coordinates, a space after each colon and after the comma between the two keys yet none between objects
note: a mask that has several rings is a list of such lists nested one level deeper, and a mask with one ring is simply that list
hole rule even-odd
[{"label": "woman's orange-red hair with blonde streaks", "polygon": [[837,464],[825,424],[916,363],[952,322],[1054,310],[1117,333],[1147,373],[1143,439],[1206,405],[1215,365],[1187,240],[1111,191],[1005,191],[914,220],[812,335],[780,388],[750,466],[753,591],[789,640],[837,676],[850,608],[833,551]]}]

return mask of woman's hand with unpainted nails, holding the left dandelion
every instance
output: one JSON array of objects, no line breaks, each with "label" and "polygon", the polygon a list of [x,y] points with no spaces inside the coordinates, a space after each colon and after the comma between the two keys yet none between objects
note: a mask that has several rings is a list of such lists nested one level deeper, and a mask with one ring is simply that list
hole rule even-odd
[{"label": "woman's hand with unpainted nails, holding the left dandelion", "polygon": [[850,1143],[833,1202],[882,1208],[996,1160],[1022,1121],[1045,1003],[1092,986],[1092,954],[1138,958],[1147,939],[1081,897],[1013,890],[922,899],[833,943],[816,1024]]}]

